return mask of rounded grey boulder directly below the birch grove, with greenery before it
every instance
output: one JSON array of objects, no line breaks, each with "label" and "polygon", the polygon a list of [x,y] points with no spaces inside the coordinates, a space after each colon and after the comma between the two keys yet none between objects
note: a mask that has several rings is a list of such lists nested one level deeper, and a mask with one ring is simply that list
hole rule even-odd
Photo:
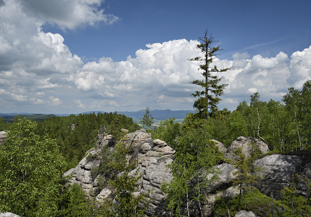
[{"label": "rounded grey boulder directly below the birch grove, with greenery before it", "polygon": [[250,153],[252,151],[252,146],[250,145],[252,142],[261,150],[263,154],[269,152],[269,148],[267,143],[260,141],[254,137],[245,137],[240,136],[236,140],[234,140],[230,147],[228,148],[227,152],[224,153],[224,158],[228,160],[236,160],[237,157],[234,155],[234,151],[238,148],[242,148],[242,152],[245,154],[246,157],[250,157]]}]

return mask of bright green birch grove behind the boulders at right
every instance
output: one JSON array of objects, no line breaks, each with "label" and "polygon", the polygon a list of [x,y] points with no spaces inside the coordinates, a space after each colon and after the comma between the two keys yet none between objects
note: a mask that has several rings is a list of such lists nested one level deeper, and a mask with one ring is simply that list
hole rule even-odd
[{"label": "bright green birch grove behind the boulders at right", "polygon": [[223,115],[223,122],[210,118],[214,139],[229,146],[239,136],[251,136],[268,144],[271,151],[304,150],[311,144],[311,81],[302,90],[289,88],[282,102],[260,100],[259,92],[250,103],[241,102],[235,111]]}]

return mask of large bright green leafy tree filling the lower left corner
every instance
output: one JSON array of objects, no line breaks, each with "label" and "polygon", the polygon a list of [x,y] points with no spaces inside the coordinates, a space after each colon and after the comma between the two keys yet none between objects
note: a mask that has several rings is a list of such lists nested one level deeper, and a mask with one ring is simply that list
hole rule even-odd
[{"label": "large bright green leafy tree filling the lower left corner", "polygon": [[47,135],[35,133],[36,123],[16,119],[9,137],[0,147],[0,207],[22,216],[37,209],[48,211],[42,200],[47,191],[57,191],[66,169],[58,147]]}]

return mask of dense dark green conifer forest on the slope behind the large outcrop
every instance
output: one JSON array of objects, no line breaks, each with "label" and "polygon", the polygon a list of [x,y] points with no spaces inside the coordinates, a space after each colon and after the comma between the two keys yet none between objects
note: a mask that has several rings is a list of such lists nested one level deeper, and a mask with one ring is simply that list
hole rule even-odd
[{"label": "dense dark green conifer forest on the slope behind the large outcrop", "polygon": [[[119,120],[118,130],[125,128],[129,132],[134,132],[140,128],[138,124],[133,123],[132,118],[110,112],[49,117],[42,122],[37,122],[36,132],[41,136],[48,134],[50,138],[56,140],[60,152],[68,163],[67,169],[70,169],[77,166],[79,161],[85,157],[85,152],[94,146],[100,129],[114,128],[115,123],[112,121],[117,117]],[[75,125],[74,129],[71,128],[72,124]],[[104,132],[101,131],[101,133]]]}]

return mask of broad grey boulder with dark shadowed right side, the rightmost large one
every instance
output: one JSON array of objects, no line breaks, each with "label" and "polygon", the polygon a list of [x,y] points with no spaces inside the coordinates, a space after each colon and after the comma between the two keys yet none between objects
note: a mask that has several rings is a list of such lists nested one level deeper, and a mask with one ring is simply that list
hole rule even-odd
[{"label": "broad grey boulder with dark shadowed right side, the rightmost large one", "polygon": [[267,196],[272,193],[274,198],[280,199],[280,190],[289,186],[299,171],[301,162],[299,156],[291,155],[269,155],[257,160],[256,166],[262,168],[258,174],[265,177],[258,181],[258,190]]}]

